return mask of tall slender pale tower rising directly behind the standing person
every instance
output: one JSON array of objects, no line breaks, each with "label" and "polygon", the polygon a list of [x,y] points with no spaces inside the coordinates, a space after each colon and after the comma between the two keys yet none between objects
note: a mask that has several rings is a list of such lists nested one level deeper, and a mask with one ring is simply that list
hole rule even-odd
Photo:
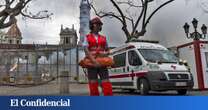
[{"label": "tall slender pale tower rising directly behind the standing person", "polygon": [[89,32],[90,21],[90,4],[88,0],[81,0],[80,4],[80,41],[79,44],[84,41],[85,35]]}]

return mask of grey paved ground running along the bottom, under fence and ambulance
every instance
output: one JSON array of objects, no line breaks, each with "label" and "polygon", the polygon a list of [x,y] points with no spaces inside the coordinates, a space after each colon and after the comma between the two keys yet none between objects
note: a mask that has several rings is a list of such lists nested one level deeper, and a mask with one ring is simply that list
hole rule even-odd
[{"label": "grey paved ground running along the bottom, under fence and ambulance", "polygon": [[[101,90],[101,89],[100,89]],[[88,86],[87,84],[72,83],[69,85],[69,94],[71,96],[87,96]],[[32,87],[14,87],[14,86],[0,86],[1,96],[10,95],[60,95],[59,83],[52,81],[48,84],[32,86]],[[115,96],[139,96],[139,91],[129,92],[128,90],[114,89]],[[150,96],[174,96],[177,95],[175,91],[168,92],[150,92]],[[208,95],[208,91],[189,91],[187,96],[204,96]]]}]

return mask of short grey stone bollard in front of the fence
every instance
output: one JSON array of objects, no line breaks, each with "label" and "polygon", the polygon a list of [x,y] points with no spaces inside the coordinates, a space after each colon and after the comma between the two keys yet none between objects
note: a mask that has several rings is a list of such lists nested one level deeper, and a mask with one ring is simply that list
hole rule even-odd
[{"label": "short grey stone bollard in front of the fence", "polygon": [[69,94],[69,72],[62,71],[60,74],[60,94]]}]

